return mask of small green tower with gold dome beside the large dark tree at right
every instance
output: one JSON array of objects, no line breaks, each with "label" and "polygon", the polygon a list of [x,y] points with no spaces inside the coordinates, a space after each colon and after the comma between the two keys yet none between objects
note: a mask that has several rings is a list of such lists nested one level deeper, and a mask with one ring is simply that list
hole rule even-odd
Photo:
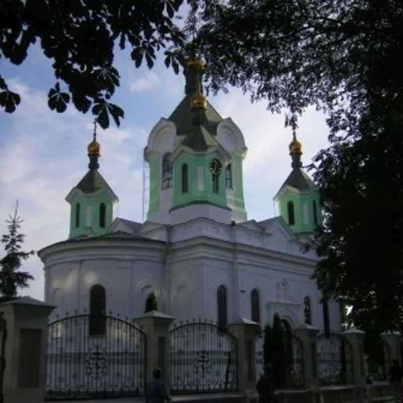
[{"label": "small green tower with gold dome beside the large dark tree at right", "polygon": [[322,223],[319,192],[302,169],[302,145],[295,132],[289,146],[292,171],[274,197],[280,216],[294,234],[312,233]]}]

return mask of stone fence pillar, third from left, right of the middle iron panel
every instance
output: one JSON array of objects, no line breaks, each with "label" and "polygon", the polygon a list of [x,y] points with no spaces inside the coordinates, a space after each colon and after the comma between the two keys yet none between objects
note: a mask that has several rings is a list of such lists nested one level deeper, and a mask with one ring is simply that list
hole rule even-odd
[{"label": "stone fence pillar, third from left, right of the middle iron panel", "polygon": [[255,339],[260,326],[249,319],[240,318],[228,325],[237,339],[238,391],[246,395],[255,393]]}]

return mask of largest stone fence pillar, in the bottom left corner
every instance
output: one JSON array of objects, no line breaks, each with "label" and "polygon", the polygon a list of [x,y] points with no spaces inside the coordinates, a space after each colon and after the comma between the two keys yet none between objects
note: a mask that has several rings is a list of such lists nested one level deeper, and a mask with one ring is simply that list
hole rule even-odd
[{"label": "largest stone fence pillar, in the bottom left corner", "polygon": [[0,304],[5,332],[3,403],[38,403],[45,394],[48,316],[54,306],[30,297]]}]

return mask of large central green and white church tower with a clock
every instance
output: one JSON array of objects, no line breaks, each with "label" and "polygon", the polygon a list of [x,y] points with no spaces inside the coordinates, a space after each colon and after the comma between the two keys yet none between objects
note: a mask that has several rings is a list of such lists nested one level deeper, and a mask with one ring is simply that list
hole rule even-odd
[{"label": "large central green and white church tower with a clock", "polygon": [[205,63],[184,62],[185,97],[150,133],[149,221],[178,224],[204,217],[230,224],[246,220],[239,128],[223,119],[203,95]]}]

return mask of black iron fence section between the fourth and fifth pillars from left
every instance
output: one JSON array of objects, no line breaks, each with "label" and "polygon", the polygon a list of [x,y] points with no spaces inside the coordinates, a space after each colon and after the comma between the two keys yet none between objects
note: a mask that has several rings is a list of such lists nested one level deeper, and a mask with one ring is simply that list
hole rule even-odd
[{"label": "black iron fence section between the fourth and fifth pillars from left", "polygon": [[352,346],[339,333],[317,334],[316,362],[321,385],[354,383]]}]

